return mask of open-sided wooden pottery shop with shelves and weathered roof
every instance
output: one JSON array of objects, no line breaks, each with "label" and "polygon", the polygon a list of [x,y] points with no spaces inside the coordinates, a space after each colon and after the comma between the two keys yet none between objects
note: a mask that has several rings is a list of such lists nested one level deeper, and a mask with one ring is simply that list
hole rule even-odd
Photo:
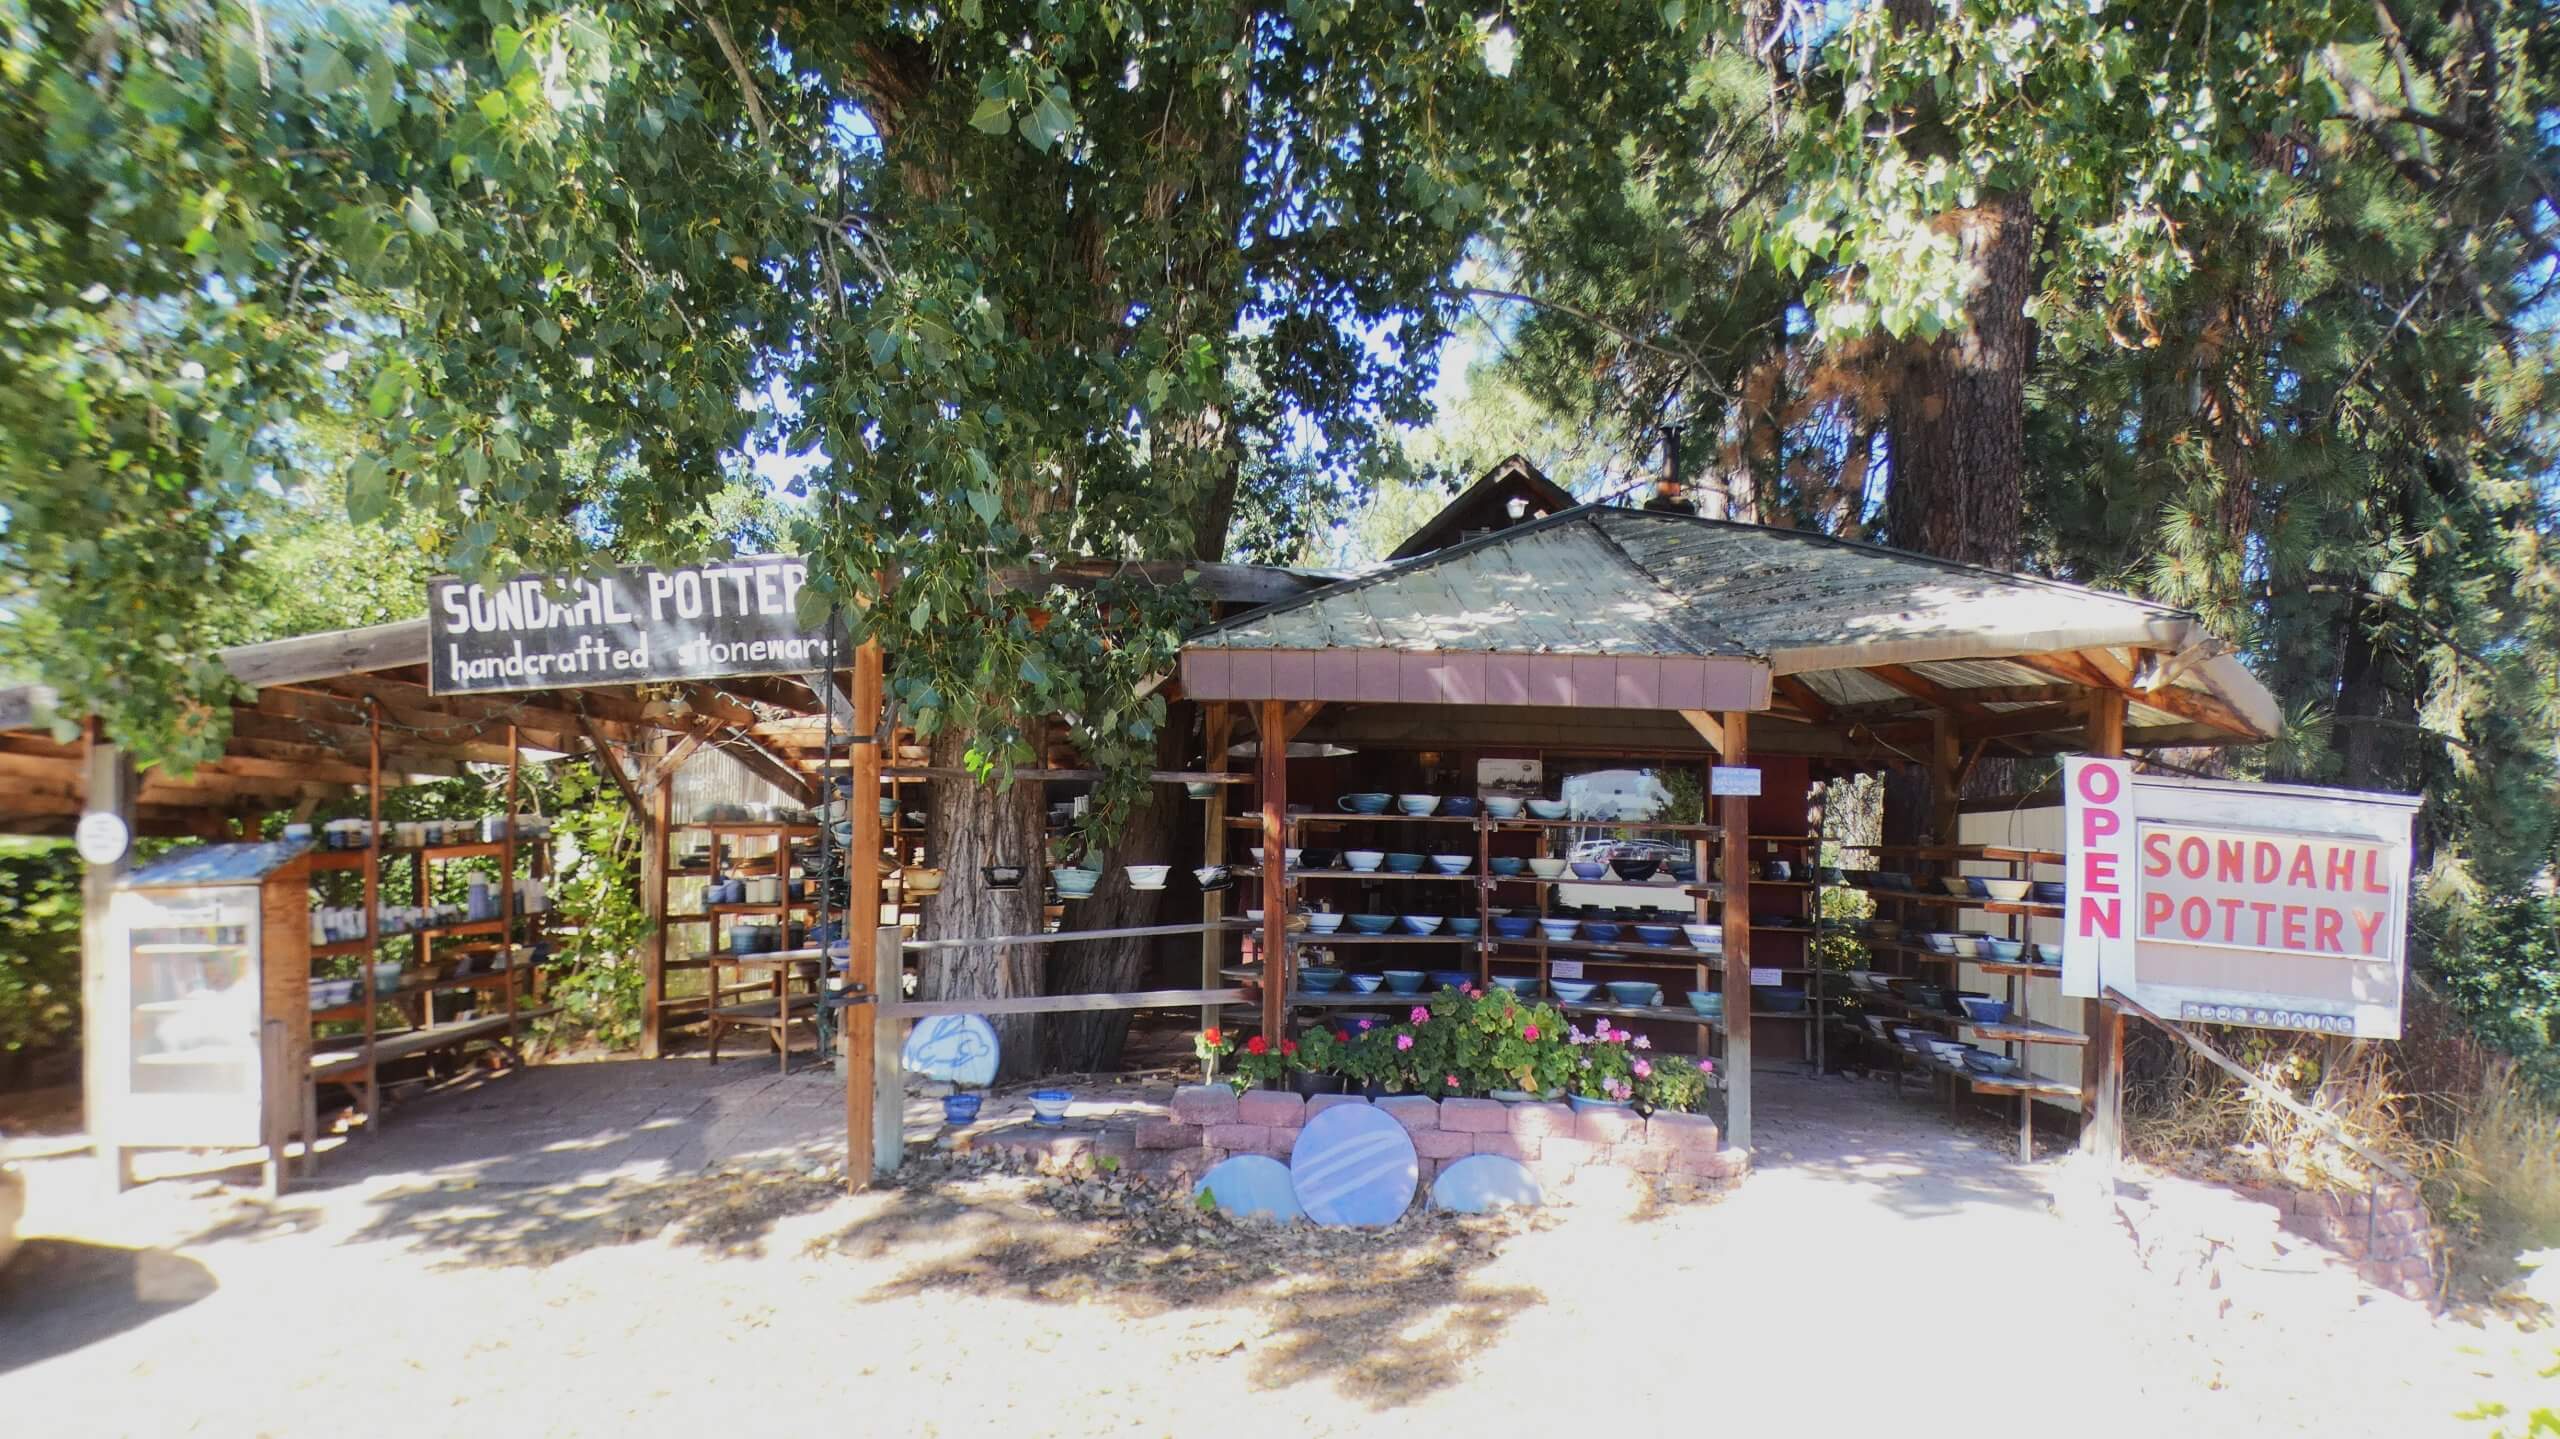
[{"label": "open-sided wooden pottery shop with shelves and weathered roof", "polygon": [[[1108,568],[1121,566],[1055,579]],[[1165,853],[1108,855],[1111,871],[1172,865],[1157,922],[1132,927],[1155,945],[1147,983],[1185,993],[1155,1014],[1285,1034],[1375,1009],[1359,986],[1377,976],[1385,993],[1388,970],[1536,983],[1659,1050],[1718,1057],[1725,1147],[1748,1145],[1751,1073],[1769,1065],[1894,1068],[1951,1101],[2015,1104],[2022,1134],[2038,1106],[2104,1093],[2112,1024],[2061,1001],[2035,955],[2058,906],[2033,886],[2061,878],[2061,855],[2020,840],[2012,817],[2056,796],[1966,801],[1966,781],[1992,760],[2276,730],[2266,689],[2194,615],[1761,525],[1577,507],[1518,458],[1372,574],[1165,566],[1162,579],[1201,586],[1224,617],[1165,679],[1193,748],[1155,778],[1185,789],[1185,822]],[[435,694],[422,620],[220,658],[251,696],[225,753],[189,778],[136,778],[113,735],[92,725],[61,743],[38,689],[0,694],[0,832],[115,814],[146,837],[238,842],[276,817],[353,814],[376,835],[346,850],[320,835],[300,863],[251,876],[261,904],[294,891],[315,912],[307,940],[259,955],[261,973],[300,973],[259,1009],[292,1032],[282,1068],[251,1065],[266,1078],[261,1134],[310,1134],[310,1116],[340,1104],[379,1116],[387,1088],[471,1055],[504,1060],[545,1006],[553,919],[525,886],[548,863],[538,824],[499,801],[430,832],[389,804],[461,766],[586,755],[643,817],[640,888],[658,919],[643,953],[648,1055],[678,1034],[748,1032],[786,1065],[794,1042],[806,1060],[829,1017],[822,940],[850,896],[878,896],[881,927],[842,924],[845,970],[878,996],[914,988],[924,945],[1055,945],[1052,929],[1080,924],[1042,855],[940,853],[955,837],[932,796],[968,778],[904,750],[876,650],[835,673],[479,696]],[[1019,778],[1073,809],[1091,784],[1075,766],[1057,753]],[[1825,804],[1836,781],[1884,773],[1882,822]],[[1390,799],[1344,812],[1362,794]],[[1405,814],[1395,796],[1436,804]],[[364,830],[371,819],[384,827]],[[1257,865],[1257,845],[1300,863]],[[1362,868],[1372,853],[1400,860]],[[1434,855],[1464,865],[1441,873]],[[1032,868],[1009,909],[1019,935],[955,919],[988,912],[963,886],[996,858]],[[1421,863],[1403,871],[1405,858]],[[1221,863],[1229,888],[1185,873]],[[133,1050],[154,1029],[100,1001],[110,968],[141,973],[110,953],[105,924],[131,868],[90,873],[92,1106],[133,1088]],[[466,873],[484,876],[494,912],[451,909]],[[1321,932],[1300,914],[1390,927]],[[1308,968],[1339,978],[1316,988]],[[312,999],[320,983],[328,1004]],[[1966,1011],[1966,996],[2004,1011]],[[860,1065],[896,1055],[896,1022],[878,1027],[888,1042],[847,1029],[865,1032]],[[876,1073],[873,1101],[893,1098],[893,1068]],[[881,1134],[868,1142],[893,1155],[893,1111],[886,1127],[876,1104],[858,1116],[852,1088],[855,1147]]]}]

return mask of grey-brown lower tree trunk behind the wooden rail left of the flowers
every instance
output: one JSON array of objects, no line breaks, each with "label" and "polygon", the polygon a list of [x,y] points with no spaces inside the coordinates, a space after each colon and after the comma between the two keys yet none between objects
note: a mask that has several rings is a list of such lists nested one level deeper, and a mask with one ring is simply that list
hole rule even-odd
[{"label": "grey-brown lower tree trunk behind the wooden rail left of the flowers", "polygon": [[[934,768],[960,768],[968,737],[934,735]],[[1029,935],[1039,929],[1039,876],[1044,809],[1037,781],[1009,789],[968,778],[929,781],[927,845],[942,868],[942,894],[927,899],[922,935],[927,940],[970,935]],[[901,855],[904,858],[904,855]],[[988,888],[978,865],[1029,865],[1021,888]],[[1009,999],[1039,993],[1042,950],[924,950],[916,976],[919,999]],[[1037,1017],[993,1017],[1004,1045],[998,1078],[1016,1081],[1042,1070]]]}]

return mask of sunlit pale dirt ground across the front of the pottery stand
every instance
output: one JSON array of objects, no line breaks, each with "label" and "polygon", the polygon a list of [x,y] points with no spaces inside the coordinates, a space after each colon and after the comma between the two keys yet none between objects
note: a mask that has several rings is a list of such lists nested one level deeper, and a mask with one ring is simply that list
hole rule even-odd
[{"label": "sunlit pale dirt ground across the front of the pottery stand", "polygon": [[[2063,1162],[1759,1075],[1759,1173],[1661,1203],[1272,1229],[970,1162],[847,1198],[824,1073],[466,1083],[259,1203],[20,1155],[15,1434],[2491,1434],[2550,1334],[2135,1260]],[[61,1152],[69,1150],[69,1152]],[[2158,1180],[2171,1183],[2171,1180]],[[2056,1206],[2056,1198],[2063,1198]],[[2074,1198],[2079,1196],[2079,1198]],[[2540,1357],[2537,1355],[2547,1355]],[[2522,1406],[2522,1403],[2519,1403]],[[2522,1431],[2522,1424],[2514,1424]]]}]

